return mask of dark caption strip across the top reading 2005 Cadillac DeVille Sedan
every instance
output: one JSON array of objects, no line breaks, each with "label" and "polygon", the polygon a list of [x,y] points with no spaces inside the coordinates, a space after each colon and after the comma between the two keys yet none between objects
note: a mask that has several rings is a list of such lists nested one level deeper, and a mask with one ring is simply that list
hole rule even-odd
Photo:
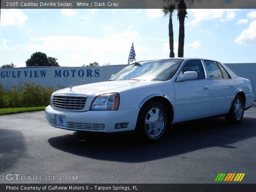
[{"label": "dark caption strip across the top reading 2005 Cadillac DeVille Sedan", "polygon": [[[194,9],[256,8],[256,0],[184,1],[187,8]],[[163,5],[162,0],[1,0],[2,9],[160,9]]]}]

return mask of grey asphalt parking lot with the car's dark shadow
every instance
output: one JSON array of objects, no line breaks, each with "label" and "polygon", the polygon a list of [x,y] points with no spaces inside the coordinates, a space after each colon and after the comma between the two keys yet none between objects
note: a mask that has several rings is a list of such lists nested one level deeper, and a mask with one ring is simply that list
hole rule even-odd
[{"label": "grey asphalt parking lot with the car's dark shadow", "polygon": [[218,173],[245,173],[242,182],[255,183],[255,148],[256,105],[240,124],[178,124],[152,144],[54,128],[44,111],[12,114],[0,116],[0,183],[214,183]]}]

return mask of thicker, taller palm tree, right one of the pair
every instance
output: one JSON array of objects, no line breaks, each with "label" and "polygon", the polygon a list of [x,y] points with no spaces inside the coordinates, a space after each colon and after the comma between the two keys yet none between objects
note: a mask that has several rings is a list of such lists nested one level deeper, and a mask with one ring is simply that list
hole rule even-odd
[{"label": "thicker, taller palm tree, right one of the pair", "polygon": [[[179,20],[179,40],[178,40],[178,57],[184,57],[184,40],[185,40],[185,18],[188,14],[186,2],[190,5],[194,4],[196,0],[162,0],[164,3],[177,5],[178,20]],[[201,0],[197,0],[201,1]]]}]

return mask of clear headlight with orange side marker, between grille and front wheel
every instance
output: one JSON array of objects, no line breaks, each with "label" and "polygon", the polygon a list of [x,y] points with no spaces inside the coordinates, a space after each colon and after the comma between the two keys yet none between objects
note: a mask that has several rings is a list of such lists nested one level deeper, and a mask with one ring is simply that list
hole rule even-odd
[{"label": "clear headlight with orange side marker, between grille and front wheel", "polygon": [[91,105],[92,110],[117,110],[119,105],[119,94],[109,93],[97,96]]}]

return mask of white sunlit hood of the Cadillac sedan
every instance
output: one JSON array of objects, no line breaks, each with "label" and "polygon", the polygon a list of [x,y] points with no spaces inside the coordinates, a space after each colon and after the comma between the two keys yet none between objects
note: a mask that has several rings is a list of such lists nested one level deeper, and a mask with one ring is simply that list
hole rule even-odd
[{"label": "white sunlit hood of the Cadillac sedan", "polygon": [[55,92],[54,94],[81,94],[88,97],[95,97],[106,93],[120,93],[122,91],[136,89],[139,87],[151,86],[153,84],[159,84],[161,81],[143,81],[143,80],[115,80],[105,81],[92,84],[85,84],[74,86],[70,91],[70,88],[65,88]]}]

